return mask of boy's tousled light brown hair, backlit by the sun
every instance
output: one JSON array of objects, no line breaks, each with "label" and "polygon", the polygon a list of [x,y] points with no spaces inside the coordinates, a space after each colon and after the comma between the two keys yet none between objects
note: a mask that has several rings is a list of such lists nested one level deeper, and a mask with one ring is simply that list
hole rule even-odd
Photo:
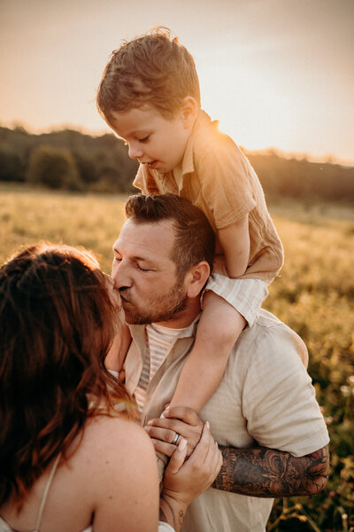
[{"label": "boy's tousled light brown hair, backlit by the sun", "polygon": [[156,27],[112,52],[97,90],[96,105],[112,125],[112,112],[143,105],[171,119],[187,96],[195,98],[200,107],[194,59],[177,37],[171,38],[168,28]]}]

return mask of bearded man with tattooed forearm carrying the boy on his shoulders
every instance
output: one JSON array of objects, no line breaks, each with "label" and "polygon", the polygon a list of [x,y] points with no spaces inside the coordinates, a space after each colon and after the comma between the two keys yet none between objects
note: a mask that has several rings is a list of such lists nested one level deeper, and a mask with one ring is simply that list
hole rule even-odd
[{"label": "bearded man with tattooed forearm carrying the boy on his shoulders", "polygon": [[[190,452],[203,426],[196,414],[180,407],[158,418],[193,347],[214,237],[204,214],[176,196],[134,196],[126,211],[112,275],[133,337],[127,388],[155,448],[171,455],[182,434]],[[224,455],[218,489],[190,505],[183,531],[263,532],[272,497],[312,495],[325,486],[328,434],[305,356],[296,333],[265,310],[242,332],[200,411]]]}]

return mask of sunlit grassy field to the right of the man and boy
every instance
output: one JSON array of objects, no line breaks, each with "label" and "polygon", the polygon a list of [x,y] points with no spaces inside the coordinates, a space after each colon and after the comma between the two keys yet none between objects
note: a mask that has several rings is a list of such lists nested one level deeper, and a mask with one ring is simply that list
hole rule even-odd
[{"label": "sunlit grassy field to the right of the man and boy", "polygon": [[331,437],[327,489],[277,501],[268,530],[354,530],[354,208],[271,209],[285,265],[265,306],[304,339]]}]

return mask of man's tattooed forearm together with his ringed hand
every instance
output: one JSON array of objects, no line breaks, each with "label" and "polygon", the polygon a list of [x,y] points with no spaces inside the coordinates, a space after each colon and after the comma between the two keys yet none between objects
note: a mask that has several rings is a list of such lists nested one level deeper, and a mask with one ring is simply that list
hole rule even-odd
[{"label": "man's tattooed forearm together with his ringed hand", "polygon": [[[145,426],[155,449],[171,457],[176,433],[188,441],[187,455],[196,447],[203,422],[195,411],[175,407],[165,419],[151,419]],[[223,465],[213,487],[252,497],[315,495],[326,486],[329,455],[327,447],[304,457],[256,445],[250,449],[221,447]]]}]

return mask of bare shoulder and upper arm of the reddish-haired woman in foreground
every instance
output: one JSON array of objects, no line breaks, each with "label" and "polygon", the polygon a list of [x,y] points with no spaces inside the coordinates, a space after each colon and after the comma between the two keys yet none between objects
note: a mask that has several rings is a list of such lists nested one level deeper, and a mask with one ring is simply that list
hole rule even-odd
[{"label": "bare shoulder and upper arm of the reddish-haired woman in foreground", "polygon": [[77,455],[76,469],[96,508],[97,529],[108,529],[111,519],[123,522],[126,513],[136,512],[136,501],[142,513],[158,516],[157,460],[142,426],[120,416],[90,419]]}]

